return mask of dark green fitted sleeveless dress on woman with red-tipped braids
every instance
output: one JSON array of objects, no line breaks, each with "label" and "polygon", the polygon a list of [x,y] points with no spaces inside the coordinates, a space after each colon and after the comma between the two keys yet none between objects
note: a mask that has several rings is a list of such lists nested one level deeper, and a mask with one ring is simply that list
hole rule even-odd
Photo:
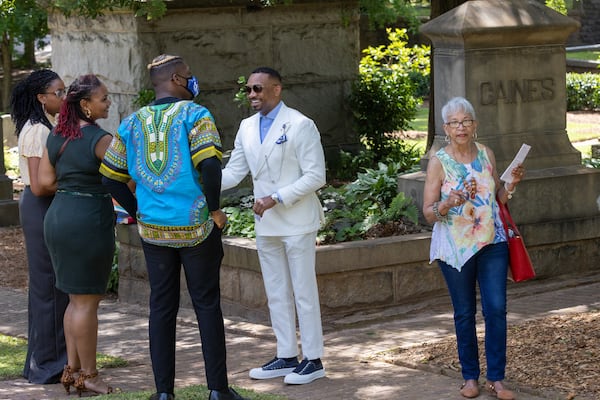
[{"label": "dark green fitted sleeveless dress on woman with red-tipped braids", "polygon": [[96,125],[82,132],[82,138],[67,143],[58,160],[66,139],[54,132],[48,137],[58,190],[44,219],[44,236],[57,288],[69,294],[103,294],[115,249],[114,213],[94,148],[109,133]]}]

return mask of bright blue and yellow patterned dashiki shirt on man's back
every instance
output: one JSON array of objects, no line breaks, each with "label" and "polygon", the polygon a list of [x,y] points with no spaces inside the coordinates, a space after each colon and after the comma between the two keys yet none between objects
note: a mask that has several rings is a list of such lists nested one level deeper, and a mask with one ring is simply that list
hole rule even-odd
[{"label": "bright blue and yellow patterned dashiki shirt on man's back", "polygon": [[205,107],[177,100],[143,107],[124,119],[100,172],[119,182],[135,181],[144,241],[189,247],[213,228],[195,167],[214,156],[222,158],[214,118]]}]

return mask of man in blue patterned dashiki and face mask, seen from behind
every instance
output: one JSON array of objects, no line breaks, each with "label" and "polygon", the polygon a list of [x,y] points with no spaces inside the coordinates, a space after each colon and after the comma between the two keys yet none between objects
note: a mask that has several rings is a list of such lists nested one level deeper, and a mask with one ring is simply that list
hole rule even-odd
[{"label": "man in blue patterned dashiki and face mask, seen from behind", "polygon": [[[150,281],[151,400],[174,399],[181,265],[198,319],[209,400],[243,400],[227,380],[219,271],[221,139],[192,100],[198,81],[181,57],[148,65],[156,100],[123,120],[101,166],[115,199],[136,216]],[[127,187],[135,182],[135,197]]]}]

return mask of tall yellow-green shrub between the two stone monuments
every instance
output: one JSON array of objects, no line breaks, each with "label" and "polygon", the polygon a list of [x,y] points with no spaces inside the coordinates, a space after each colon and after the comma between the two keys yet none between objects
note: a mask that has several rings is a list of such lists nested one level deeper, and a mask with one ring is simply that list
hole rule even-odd
[{"label": "tall yellow-green shrub between the two stone monuments", "polygon": [[[406,29],[387,30],[387,46],[368,47],[352,85],[350,108],[363,145],[375,161],[391,151],[392,133],[408,129],[421,99],[416,96],[415,74],[429,77],[429,47],[408,48]],[[411,79],[411,76],[413,78]],[[422,90],[422,89],[421,89]]]}]

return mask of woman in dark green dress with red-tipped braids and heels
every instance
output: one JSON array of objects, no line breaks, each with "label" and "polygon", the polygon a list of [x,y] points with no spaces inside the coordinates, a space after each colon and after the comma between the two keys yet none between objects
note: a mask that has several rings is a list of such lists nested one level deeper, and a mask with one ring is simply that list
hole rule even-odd
[{"label": "woman in dark green dress with red-tipped braids and heels", "polygon": [[71,386],[79,394],[112,392],[96,369],[98,305],[106,292],[115,238],[112,200],[98,172],[112,136],[95,121],[108,116],[110,103],[95,75],[76,79],[40,162],[40,183],[56,187],[44,219],[46,245],[56,286],[69,295],[67,365],[61,378],[67,393]]}]

